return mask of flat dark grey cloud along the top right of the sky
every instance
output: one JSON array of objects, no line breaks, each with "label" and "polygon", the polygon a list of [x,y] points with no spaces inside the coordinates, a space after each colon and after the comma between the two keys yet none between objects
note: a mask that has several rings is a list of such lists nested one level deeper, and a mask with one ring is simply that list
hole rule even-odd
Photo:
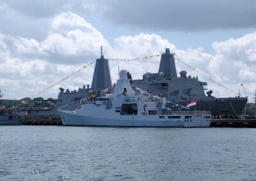
[{"label": "flat dark grey cloud along the top right of the sky", "polygon": [[255,27],[255,4],[241,0],[110,1],[102,17],[115,25],[147,31],[239,29]]}]

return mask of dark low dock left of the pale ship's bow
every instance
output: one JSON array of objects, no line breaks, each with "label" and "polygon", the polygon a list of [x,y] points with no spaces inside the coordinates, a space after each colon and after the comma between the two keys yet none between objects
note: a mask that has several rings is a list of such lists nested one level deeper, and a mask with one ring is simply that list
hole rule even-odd
[{"label": "dark low dock left of the pale ship's bow", "polygon": [[61,119],[25,119],[24,125],[33,126],[61,126]]}]

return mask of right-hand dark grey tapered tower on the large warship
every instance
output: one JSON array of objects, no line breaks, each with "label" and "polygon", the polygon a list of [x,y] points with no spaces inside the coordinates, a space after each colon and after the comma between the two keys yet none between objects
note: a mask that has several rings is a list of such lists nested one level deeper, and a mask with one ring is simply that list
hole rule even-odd
[{"label": "right-hand dark grey tapered tower on the large warship", "polygon": [[164,77],[177,77],[173,55],[170,53],[170,49],[166,48],[164,54],[161,56],[158,73],[163,72]]}]

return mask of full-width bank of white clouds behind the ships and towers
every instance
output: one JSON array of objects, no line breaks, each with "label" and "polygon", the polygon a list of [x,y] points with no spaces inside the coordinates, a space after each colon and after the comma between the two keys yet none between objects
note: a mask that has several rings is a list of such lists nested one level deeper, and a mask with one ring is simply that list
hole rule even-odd
[{"label": "full-width bank of white clouds behind the ships and towers", "polygon": [[[74,13],[61,13],[52,20],[52,29],[42,40],[15,37],[0,33],[0,86],[8,98],[33,96],[54,82],[81,68],[84,64],[99,57],[100,46],[104,47],[107,58],[133,58],[164,52],[170,48],[176,57],[198,69],[209,78],[237,91],[243,82],[255,85],[256,33],[241,38],[212,43],[215,55],[207,54],[203,48],[179,50],[168,40],[157,34],[140,33],[135,36],[120,36],[111,47],[108,40],[84,18]],[[121,69],[128,69],[135,79],[143,73],[156,73],[160,58],[143,61],[120,62]],[[118,78],[116,62],[109,62],[113,82]],[[193,70],[176,61],[177,72],[186,69],[189,75],[209,83],[209,88],[218,96],[234,96],[232,92],[221,89]],[[90,84],[93,68],[86,68],[72,80],[61,83],[61,87],[74,89]],[[253,84],[254,83],[254,84]],[[248,89],[249,90],[249,89]],[[17,93],[19,92],[19,94]],[[58,87],[45,92],[47,97],[56,98]]]}]

